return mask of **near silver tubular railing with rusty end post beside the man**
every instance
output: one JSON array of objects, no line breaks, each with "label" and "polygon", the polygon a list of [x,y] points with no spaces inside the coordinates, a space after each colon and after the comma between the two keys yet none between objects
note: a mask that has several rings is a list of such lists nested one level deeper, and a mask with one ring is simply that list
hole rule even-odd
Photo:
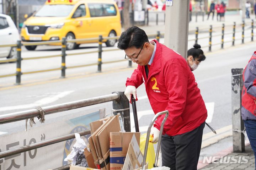
[{"label": "near silver tubular railing with rusty end post beside the man", "polygon": [[[42,107],[42,110],[43,110],[44,115],[48,115],[48,114],[53,114],[53,113],[59,113],[62,111],[82,108],[85,106],[111,102],[111,101],[113,101],[113,109],[114,109],[113,114],[116,115],[117,113],[120,113],[120,111],[121,111],[121,116],[122,116],[122,119],[124,122],[124,130],[126,130],[126,132],[130,132],[129,101],[125,97],[124,92],[113,92],[112,94],[103,95],[100,97],[78,100],[78,101],[63,103],[63,104],[58,104],[58,105],[46,106],[46,107]],[[11,113],[11,114],[0,115],[0,125],[10,123],[10,122],[20,121],[20,120],[26,120],[26,119],[30,119],[33,117],[38,117],[41,115],[39,112],[40,111],[37,109],[31,109],[31,110],[26,110],[26,111]],[[80,131],[78,133],[80,134],[80,136],[89,135],[90,130],[84,130],[84,131]],[[48,146],[51,144],[63,142],[63,141],[73,139],[73,138],[75,138],[75,133],[56,137],[56,138],[38,142],[38,143],[29,144],[29,145],[26,145],[23,147],[6,150],[4,152],[0,152],[0,159],[10,157],[15,154],[27,152],[27,151],[30,151],[33,149],[45,147],[45,146]],[[68,168],[67,166],[63,166],[63,167],[59,167],[57,169],[64,170],[67,168]]]}]

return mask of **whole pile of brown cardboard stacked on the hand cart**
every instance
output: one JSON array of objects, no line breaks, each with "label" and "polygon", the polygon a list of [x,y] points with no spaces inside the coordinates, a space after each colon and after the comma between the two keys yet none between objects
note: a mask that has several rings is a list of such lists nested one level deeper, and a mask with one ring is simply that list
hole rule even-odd
[{"label": "whole pile of brown cardboard stacked on the hand cart", "polygon": [[[143,155],[139,149],[140,133],[125,132],[120,115],[90,123],[90,150],[85,157],[92,169],[133,170],[140,168]],[[70,170],[78,170],[70,166]],[[89,168],[82,168],[89,170]]]}]

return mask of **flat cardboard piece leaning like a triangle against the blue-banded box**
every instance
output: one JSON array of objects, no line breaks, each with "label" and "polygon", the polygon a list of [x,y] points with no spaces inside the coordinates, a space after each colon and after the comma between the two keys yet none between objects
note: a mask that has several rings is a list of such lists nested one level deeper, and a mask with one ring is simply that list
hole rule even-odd
[{"label": "flat cardboard piece leaning like a triangle against the blue-banded box", "polygon": [[134,170],[141,167],[143,162],[143,154],[140,152],[139,145],[135,135],[129,144],[126,160],[124,161],[123,170]]}]

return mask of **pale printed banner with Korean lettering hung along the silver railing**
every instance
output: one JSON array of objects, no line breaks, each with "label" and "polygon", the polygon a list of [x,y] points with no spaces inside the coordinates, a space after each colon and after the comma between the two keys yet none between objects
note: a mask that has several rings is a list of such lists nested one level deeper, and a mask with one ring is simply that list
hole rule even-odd
[{"label": "pale printed banner with Korean lettering hung along the silver railing", "polygon": [[[72,117],[71,119],[32,127],[28,131],[1,136],[0,152],[90,129],[90,122],[102,119],[104,116],[105,109],[100,109],[94,113],[83,114],[78,117]],[[88,139],[89,136],[86,135],[82,138]],[[74,143],[75,140],[70,139],[2,158],[0,159],[0,170],[46,170],[67,165],[68,162],[64,161],[64,159],[71,152]]]}]

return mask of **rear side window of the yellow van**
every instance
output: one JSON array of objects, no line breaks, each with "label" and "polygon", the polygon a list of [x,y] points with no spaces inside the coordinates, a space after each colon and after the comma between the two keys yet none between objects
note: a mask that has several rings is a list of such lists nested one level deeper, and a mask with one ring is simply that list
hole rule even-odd
[{"label": "rear side window of the yellow van", "polygon": [[91,17],[116,16],[117,11],[113,4],[88,4]]}]

